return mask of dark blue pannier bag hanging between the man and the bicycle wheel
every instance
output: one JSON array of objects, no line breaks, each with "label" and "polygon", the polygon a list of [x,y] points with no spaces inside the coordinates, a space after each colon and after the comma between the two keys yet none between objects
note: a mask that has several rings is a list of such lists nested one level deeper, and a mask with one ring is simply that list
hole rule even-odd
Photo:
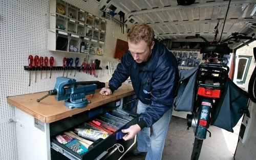
[{"label": "dark blue pannier bag hanging between the man and the bicycle wheel", "polygon": [[181,73],[174,110],[193,111],[197,71],[198,67],[195,67]]}]

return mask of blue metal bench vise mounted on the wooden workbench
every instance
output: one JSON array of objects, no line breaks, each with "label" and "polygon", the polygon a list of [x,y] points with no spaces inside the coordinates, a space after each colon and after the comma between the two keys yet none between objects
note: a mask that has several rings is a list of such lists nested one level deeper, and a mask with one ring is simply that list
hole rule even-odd
[{"label": "blue metal bench vise mounted on the wooden workbench", "polygon": [[46,96],[36,101],[40,102],[50,95],[56,95],[55,99],[57,101],[65,100],[65,106],[70,109],[81,108],[91,103],[90,100],[86,98],[86,95],[94,94],[95,89],[97,89],[96,84],[77,85],[75,79],[57,77],[54,89],[49,90]]}]

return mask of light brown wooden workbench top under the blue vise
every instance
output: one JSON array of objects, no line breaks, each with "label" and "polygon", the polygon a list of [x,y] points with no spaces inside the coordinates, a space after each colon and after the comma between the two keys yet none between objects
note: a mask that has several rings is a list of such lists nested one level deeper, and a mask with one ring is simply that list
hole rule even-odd
[{"label": "light brown wooden workbench top under the blue vise", "polygon": [[7,103],[23,110],[41,122],[51,123],[134,94],[133,87],[125,84],[109,96],[102,96],[99,91],[100,89],[96,89],[93,98],[90,99],[91,104],[82,108],[69,109],[64,105],[64,100],[56,101],[55,96],[48,96],[39,103],[36,102],[37,99],[47,95],[48,92],[7,97]]}]

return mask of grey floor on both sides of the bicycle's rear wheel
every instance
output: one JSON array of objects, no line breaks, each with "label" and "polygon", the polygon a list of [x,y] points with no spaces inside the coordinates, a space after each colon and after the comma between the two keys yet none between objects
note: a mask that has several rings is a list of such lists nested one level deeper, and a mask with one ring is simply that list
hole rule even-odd
[{"label": "grey floor on both sides of the bicycle's rear wheel", "polygon": [[[190,160],[191,151],[194,143],[193,128],[186,130],[186,119],[172,117],[169,124],[162,160]],[[221,128],[210,126],[211,138],[207,134],[203,142],[200,160],[233,160],[233,155],[238,142],[240,126],[234,127],[234,133],[225,131]],[[132,150],[127,152],[121,160],[139,160],[144,156],[134,156]]]}]

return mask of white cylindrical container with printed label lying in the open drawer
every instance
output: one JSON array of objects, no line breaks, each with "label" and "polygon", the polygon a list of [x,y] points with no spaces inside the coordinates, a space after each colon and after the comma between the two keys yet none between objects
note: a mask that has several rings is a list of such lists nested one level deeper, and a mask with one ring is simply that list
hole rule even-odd
[{"label": "white cylindrical container with printed label lying in the open drawer", "polygon": [[109,136],[109,133],[104,133],[101,131],[93,130],[93,129],[79,129],[78,130],[78,135],[81,136],[82,138],[91,140],[91,141],[96,141],[99,138],[105,139]]}]

